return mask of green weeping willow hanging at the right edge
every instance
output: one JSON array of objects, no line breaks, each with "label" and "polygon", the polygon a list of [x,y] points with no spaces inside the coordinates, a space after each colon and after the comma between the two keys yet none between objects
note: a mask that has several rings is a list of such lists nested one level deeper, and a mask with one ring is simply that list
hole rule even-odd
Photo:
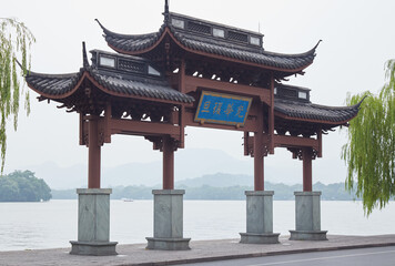
[{"label": "green weeping willow hanging at the right edge", "polygon": [[350,122],[342,157],[348,166],[346,187],[363,200],[367,215],[395,196],[395,60],[385,68],[386,81],[378,94],[367,91],[347,98],[348,104],[365,98]]}]

